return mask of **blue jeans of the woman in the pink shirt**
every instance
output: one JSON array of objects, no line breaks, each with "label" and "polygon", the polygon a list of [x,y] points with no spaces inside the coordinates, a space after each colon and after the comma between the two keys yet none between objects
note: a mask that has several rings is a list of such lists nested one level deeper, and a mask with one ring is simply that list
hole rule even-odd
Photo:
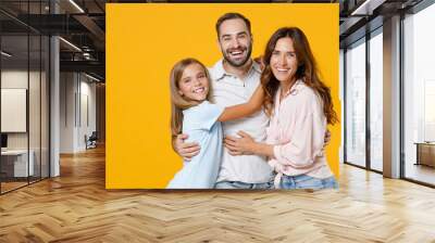
[{"label": "blue jeans of the woman in the pink shirt", "polygon": [[338,183],[334,176],[319,179],[307,175],[286,176],[283,175],[279,182],[281,189],[338,189]]}]

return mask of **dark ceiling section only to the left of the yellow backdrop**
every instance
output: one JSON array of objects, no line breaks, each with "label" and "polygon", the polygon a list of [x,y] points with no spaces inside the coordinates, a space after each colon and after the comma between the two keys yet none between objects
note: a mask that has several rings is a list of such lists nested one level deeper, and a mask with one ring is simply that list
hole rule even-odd
[{"label": "dark ceiling section only to the left of the yellow backdrop", "polygon": [[85,72],[104,79],[104,0],[1,0],[1,47],[13,53],[2,56],[2,65],[39,65],[40,55],[48,53],[44,36],[58,35],[65,40],[60,41],[61,72]]}]

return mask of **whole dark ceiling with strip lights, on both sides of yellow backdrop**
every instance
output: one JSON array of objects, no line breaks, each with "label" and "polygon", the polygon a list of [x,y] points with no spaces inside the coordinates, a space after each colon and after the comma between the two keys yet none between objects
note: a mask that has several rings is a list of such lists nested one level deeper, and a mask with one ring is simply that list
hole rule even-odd
[{"label": "whole dark ceiling with strip lights, on both sides of yellow backdrop", "polygon": [[[406,11],[422,0],[275,0],[256,2],[293,2],[293,3],[337,3],[339,2],[340,46],[361,38],[370,28],[382,25],[382,20],[393,13]],[[61,71],[87,72],[99,77],[105,73],[105,2],[146,3],[146,2],[189,2],[184,0],[1,0],[0,26],[2,50],[14,53],[15,59],[37,57],[40,44],[26,36],[59,35],[66,41],[60,41]],[[191,2],[191,1],[190,1]],[[195,2],[216,2],[202,0]],[[221,0],[220,2],[234,2]],[[253,2],[239,0],[237,2]],[[55,13],[55,14],[54,14]],[[368,24],[370,23],[370,24]],[[377,23],[377,24],[376,24]],[[369,27],[368,27],[369,26]],[[30,51],[27,54],[27,46]],[[42,48],[42,51],[46,51]],[[2,59],[3,60],[3,59]],[[11,62],[11,61],[10,61]],[[32,63],[32,61],[30,61]]]}]

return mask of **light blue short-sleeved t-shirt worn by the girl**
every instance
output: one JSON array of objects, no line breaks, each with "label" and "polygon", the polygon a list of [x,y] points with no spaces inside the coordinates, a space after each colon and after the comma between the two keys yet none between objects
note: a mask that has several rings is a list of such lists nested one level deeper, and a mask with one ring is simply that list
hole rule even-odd
[{"label": "light blue short-sleeved t-shirt worn by the girl", "polygon": [[203,101],[183,111],[183,133],[189,135],[188,142],[198,142],[199,154],[183,168],[167,184],[167,189],[212,189],[217,179],[222,157],[223,133],[217,120],[224,111],[216,104]]}]

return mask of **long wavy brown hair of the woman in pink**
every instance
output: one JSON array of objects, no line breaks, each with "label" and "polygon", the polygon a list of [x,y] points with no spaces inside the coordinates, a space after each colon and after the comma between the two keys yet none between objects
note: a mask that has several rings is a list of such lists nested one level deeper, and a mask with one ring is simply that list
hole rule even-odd
[{"label": "long wavy brown hair of the woman in pink", "polygon": [[264,50],[263,62],[264,71],[261,75],[261,85],[264,89],[264,108],[269,116],[272,115],[274,106],[274,97],[279,88],[279,81],[275,78],[271,69],[271,56],[275,50],[276,42],[281,38],[289,37],[293,40],[298,69],[296,71],[296,80],[302,80],[311,87],[323,101],[323,112],[328,124],[334,125],[338,122],[337,114],[333,107],[331,90],[320,79],[318,65],[311,52],[310,44],[303,31],[297,27],[283,27],[276,30],[269,39]]}]

